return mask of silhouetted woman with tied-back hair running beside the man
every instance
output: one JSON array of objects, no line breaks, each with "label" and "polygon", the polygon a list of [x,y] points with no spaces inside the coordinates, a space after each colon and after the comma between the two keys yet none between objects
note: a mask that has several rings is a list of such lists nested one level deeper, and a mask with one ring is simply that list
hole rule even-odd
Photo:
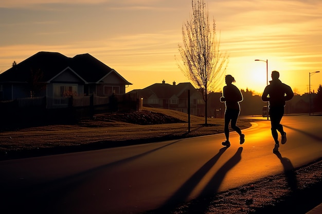
[{"label": "silhouetted woman with tied-back hair running beside the man", "polygon": [[243,101],[243,95],[240,90],[232,85],[232,82],[236,82],[235,78],[231,75],[225,77],[226,86],[223,88],[223,96],[220,98],[220,102],[225,102],[225,137],[226,141],[222,142],[223,146],[230,146],[229,142],[229,122],[231,121],[231,128],[234,129],[240,135],[240,144],[245,142],[245,135],[242,134],[240,128],[236,126],[238,115],[240,112],[239,102]]}]

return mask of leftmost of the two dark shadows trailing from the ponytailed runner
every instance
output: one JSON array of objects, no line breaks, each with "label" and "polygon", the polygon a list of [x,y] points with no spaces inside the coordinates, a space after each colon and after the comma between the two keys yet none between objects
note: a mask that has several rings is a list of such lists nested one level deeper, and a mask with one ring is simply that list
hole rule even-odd
[{"label": "leftmost of the two dark shadows trailing from the ponytailed runner", "polygon": [[161,207],[156,210],[156,213],[164,213],[164,210],[175,208],[180,203],[186,201],[189,194],[196,185],[204,178],[205,174],[212,168],[218,161],[221,155],[227,150],[228,147],[223,147],[219,152],[207,161],[198,171],[196,171]]}]

